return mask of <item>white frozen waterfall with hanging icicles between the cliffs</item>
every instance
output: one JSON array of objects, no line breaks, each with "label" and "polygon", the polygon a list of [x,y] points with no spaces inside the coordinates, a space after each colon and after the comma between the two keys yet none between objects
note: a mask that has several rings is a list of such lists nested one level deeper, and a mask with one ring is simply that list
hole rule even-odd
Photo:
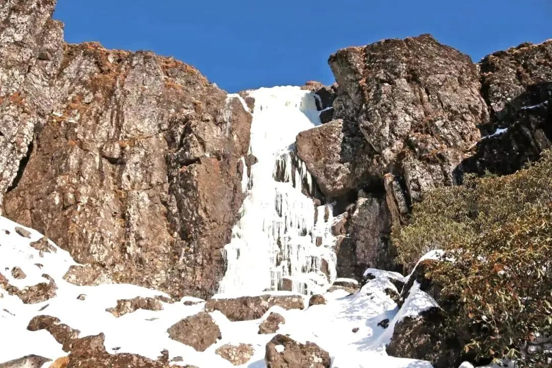
[{"label": "white frozen waterfall with hanging icicles between the cliffs", "polygon": [[336,278],[330,206],[316,206],[312,177],[292,156],[299,132],[320,125],[314,93],[299,87],[261,88],[255,99],[250,153],[257,158],[244,170],[247,191],[241,218],[225,246],[222,294],[264,290],[323,292]]}]

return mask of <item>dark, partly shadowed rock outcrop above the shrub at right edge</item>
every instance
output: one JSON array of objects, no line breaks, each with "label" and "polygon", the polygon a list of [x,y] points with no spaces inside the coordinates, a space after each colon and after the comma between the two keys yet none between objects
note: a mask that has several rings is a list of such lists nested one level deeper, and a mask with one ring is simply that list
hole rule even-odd
[{"label": "dark, partly shadowed rock outcrop above the shrub at right edge", "polygon": [[480,67],[491,121],[461,170],[511,174],[552,147],[552,40],[495,52]]}]

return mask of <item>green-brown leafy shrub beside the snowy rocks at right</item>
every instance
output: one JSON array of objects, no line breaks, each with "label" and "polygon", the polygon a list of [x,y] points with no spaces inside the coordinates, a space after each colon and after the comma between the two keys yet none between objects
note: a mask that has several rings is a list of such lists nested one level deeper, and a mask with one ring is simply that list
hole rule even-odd
[{"label": "green-brown leafy shrub beside the snowy rocks at right", "polygon": [[464,185],[433,190],[392,238],[407,268],[432,249],[454,259],[430,276],[443,298],[459,301],[444,333],[470,331],[465,351],[549,366],[552,152],[512,175],[469,177]]}]

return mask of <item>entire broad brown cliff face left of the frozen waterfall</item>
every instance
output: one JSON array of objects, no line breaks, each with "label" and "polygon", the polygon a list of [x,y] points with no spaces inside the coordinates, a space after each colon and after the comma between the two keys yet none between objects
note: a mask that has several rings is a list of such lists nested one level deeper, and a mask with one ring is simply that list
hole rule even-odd
[{"label": "entire broad brown cliff face left of the frozen waterfall", "polygon": [[54,3],[0,12],[4,215],[88,264],[74,282],[213,294],[244,196],[251,115],[172,58],[63,45]]}]

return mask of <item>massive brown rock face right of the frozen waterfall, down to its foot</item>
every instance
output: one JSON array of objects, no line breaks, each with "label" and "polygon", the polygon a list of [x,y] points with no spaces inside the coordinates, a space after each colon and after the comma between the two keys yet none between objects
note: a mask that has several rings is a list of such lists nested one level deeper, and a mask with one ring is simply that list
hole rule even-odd
[{"label": "massive brown rock face right of the frozen waterfall, down to its foot", "polygon": [[344,202],[337,273],[360,280],[368,267],[400,270],[391,225],[427,190],[458,182],[489,112],[477,66],[430,35],[348,47],[328,62],[333,120],[301,132],[296,151],[323,194]]}]

